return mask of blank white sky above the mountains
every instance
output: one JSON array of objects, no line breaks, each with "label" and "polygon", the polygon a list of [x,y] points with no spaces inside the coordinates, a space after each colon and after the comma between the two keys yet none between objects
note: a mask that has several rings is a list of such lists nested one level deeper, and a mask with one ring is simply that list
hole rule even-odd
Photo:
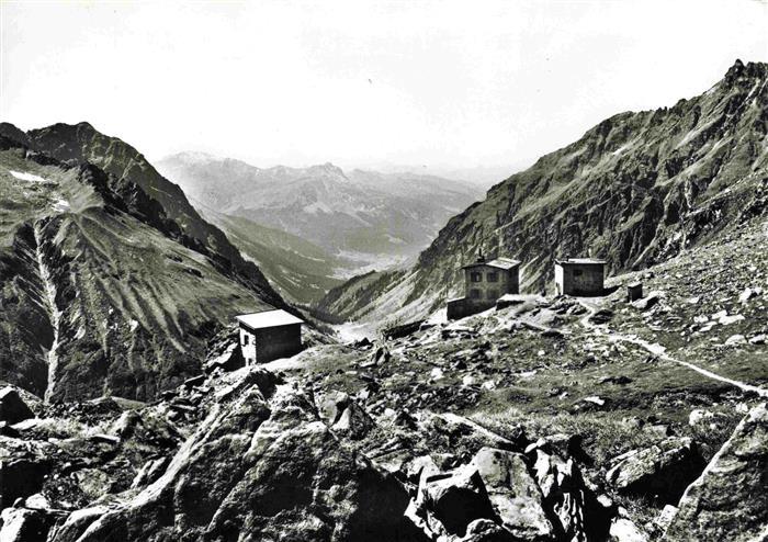
[{"label": "blank white sky above the mountains", "polygon": [[1,117],[149,159],[519,165],[768,60],[768,3],[0,2]]}]

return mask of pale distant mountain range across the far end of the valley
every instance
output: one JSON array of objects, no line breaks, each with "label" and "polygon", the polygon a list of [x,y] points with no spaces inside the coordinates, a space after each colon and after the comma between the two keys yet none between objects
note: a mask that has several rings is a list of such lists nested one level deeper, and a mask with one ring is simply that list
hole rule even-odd
[{"label": "pale distant mountain range across the far end of the valley", "polygon": [[481,196],[470,184],[325,163],[261,169],[239,160],[180,154],[158,165],[195,201],[282,229],[342,257],[392,263],[415,257],[445,219]]}]

